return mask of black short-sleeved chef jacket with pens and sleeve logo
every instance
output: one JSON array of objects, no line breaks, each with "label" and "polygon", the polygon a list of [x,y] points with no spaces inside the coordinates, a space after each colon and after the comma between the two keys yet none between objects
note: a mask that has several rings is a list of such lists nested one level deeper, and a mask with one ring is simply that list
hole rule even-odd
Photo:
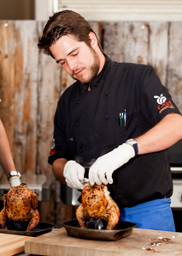
[{"label": "black short-sleeved chef jacket with pens and sleeve logo", "polygon": [[[58,101],[50,164],[66,158],[89,168],[99,156],[142,135],[168,113],[179,113],[149,65],[116,63],[106,56],[90,88],[74,82]],[[126,126],[119,125],[125,109]],[[137,155],[115,170],[113,178],[108,187],[120,208],[170,197],[173,192],[167,149]]]}]

